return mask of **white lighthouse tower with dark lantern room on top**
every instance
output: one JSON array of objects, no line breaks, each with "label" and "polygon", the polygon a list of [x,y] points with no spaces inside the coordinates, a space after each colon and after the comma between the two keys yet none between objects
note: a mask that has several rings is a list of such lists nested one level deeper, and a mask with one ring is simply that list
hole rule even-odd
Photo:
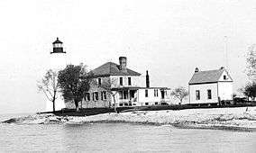
[{"label": "white lighthouse tower with dark lantern room on top", "polygon": [[[67,53],[63,50],[63,42],[61,42],[58,37],[57,40],[52,42],[52,46],[53,49],[52,52],[50,52],[50,69],[52,69],[55,72],[59,72],[59,70],[64,69],[67,66]],[[62,108],[65,108],[66,106],[61,93],[57,92],[56,95],[57,96],[55,100],[55,110],[58,111]],[[47,101],[46,112],[51,112],[53,110],[52,107],[52,102]]]}]

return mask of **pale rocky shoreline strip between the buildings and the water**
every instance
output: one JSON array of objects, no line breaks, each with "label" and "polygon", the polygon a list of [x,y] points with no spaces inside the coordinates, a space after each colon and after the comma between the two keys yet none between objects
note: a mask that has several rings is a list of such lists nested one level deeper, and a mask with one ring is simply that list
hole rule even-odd
[{"label": "pale rocky shoreline strip between the buildings and the water", "polygon": [[256,107],[112,112],[83,117],[63,117],[47,113],[17,117],[2,122],[19,124],[129,122],[155,125],[170,124],[178,128],[256,131]]}]

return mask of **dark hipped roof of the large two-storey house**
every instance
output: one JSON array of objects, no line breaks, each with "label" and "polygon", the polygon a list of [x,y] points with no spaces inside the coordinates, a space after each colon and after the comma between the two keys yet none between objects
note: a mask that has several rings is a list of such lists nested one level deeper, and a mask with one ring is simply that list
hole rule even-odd
[{"label": "dark hipped roof of the large two-storey house", "polygon": [[94,76],[141,76],[140,73],[127,68],[126,71],[120,70],[119,65],[107,62],[91,71]]}]

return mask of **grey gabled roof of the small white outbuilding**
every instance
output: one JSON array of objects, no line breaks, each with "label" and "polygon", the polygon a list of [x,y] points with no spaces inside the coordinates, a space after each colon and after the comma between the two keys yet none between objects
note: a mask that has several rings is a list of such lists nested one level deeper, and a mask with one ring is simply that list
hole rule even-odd
[{"label": "grey gabled roof of the small white outbuilding", "polygon": [[[188,85],[218,82],[224,71],[227,73],[227,76],[229,76],[224,68],[195,72],[188,82]],[[229,81],[233,81],[231,76],[229,76],[229,78]]]}]

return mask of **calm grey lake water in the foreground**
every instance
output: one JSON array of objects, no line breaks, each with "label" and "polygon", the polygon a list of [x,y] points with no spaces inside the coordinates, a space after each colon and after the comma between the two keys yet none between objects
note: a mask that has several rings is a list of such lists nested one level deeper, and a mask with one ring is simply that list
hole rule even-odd
[{"label": "calm grey lake water in the foreground", "polygon": [[256,152],[256,132],[131,123],[0,124],[2,151]]}]

